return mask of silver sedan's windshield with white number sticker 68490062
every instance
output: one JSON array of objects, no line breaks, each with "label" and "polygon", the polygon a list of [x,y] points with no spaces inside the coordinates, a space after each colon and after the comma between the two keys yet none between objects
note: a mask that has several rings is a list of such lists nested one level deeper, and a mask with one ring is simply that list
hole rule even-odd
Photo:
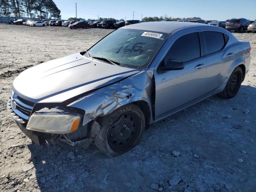
[{"label": "silver sedan's windshield with white number sticker 68490062", "polygon": [[88,54],[129,68],[146,68],[168,36],[162,32],[118,29],[90,48]]}]

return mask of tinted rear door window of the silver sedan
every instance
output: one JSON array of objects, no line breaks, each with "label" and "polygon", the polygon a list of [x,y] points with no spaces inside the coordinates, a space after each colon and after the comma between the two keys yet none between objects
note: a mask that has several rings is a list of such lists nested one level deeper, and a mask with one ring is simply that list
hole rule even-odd
[{"label": "tinted rear door window of the silver sedan", "polygon": [[204,55],[221,50],[228,41],[227,35],[213,31],[202,32],[202,38],[204,40]]}]

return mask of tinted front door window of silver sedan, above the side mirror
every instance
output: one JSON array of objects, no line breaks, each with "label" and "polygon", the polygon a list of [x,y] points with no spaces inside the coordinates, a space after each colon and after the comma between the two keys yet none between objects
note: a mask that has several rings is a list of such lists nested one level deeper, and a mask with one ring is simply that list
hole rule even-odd
[{"label": "tinted front door window of silver sedan, above the side mirror", "polygon": [[190,33],[176,40],[168,53],[165,60],[174,59],[187,62],[200,57],[200,43],[198,33]]}]

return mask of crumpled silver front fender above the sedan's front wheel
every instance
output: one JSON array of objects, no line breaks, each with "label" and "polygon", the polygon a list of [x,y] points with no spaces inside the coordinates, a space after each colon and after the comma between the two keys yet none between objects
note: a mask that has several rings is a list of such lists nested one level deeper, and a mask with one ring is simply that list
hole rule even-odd
[{"label": "crumpled silver front fender above the sedan's front wheel", "polygon": [[[120,82],[96,90],[92,94],[84,96],[68,106],[80,108],[85,111],[83,125],[94,120],[98,116],[105,116],[126,104],[135,101],[145,101],[152,111],[152,77],[150,69],[130,76]],[[150,112],[152,120],[152,113]]]}]

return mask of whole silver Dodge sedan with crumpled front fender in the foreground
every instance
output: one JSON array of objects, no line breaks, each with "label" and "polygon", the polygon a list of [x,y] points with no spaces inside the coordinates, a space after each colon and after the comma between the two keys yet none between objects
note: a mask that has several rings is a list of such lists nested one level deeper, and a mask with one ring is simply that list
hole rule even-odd
[{"label": "whole silver Dodge sedan with crumpled front fender in the foreground", "polygon": [[12,84],[8,111],[37,144],[64,141],[107,156],[136,146],[149,124],[238,93],[250,43],[193,22],[124,26],[89,50],[39,64]]}]

